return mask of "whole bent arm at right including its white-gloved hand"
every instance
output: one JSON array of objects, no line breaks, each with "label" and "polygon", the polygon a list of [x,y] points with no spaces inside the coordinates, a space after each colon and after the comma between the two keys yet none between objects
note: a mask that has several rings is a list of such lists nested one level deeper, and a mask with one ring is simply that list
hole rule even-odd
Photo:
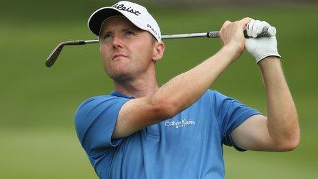
[{"label": "whole bent arm at right including its white-gloved hand", "polygon": [[245,44],[247,51],[256,58],[262,71],[267,95],[267,117],[249,117],[232,132],[232,139],[245,150],[293,150],[300,139],[298,117],[278,58],[276,38],[250,39],[247,43],[252,43]]}]

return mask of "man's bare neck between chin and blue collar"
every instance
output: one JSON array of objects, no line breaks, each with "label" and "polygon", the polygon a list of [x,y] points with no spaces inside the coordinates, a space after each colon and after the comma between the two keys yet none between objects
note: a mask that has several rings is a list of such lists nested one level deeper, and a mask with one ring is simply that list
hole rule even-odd
[{"label": "man's bare neck between chin and blue collar", "polygon": [[159,88],[155,72],[132,80],[114,80],[114,87],[117,92],[136,98],[151,95]]}]

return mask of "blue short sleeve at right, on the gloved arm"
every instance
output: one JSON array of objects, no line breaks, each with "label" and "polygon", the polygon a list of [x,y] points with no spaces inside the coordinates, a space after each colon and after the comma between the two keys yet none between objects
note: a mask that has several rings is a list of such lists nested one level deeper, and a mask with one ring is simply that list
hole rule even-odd
[{"label": "blue short sleeve at right, on the gloved arm", "polygon": [[212,92],[212,108],[215,110],[215,117],[219,124],[223,143],[228,146],[234,146],[238,151],[245,151],[234,145],[231,138],[232,131],[240,126],[247,118],[252,115],[258,115],[260,112],[218,91]]}]

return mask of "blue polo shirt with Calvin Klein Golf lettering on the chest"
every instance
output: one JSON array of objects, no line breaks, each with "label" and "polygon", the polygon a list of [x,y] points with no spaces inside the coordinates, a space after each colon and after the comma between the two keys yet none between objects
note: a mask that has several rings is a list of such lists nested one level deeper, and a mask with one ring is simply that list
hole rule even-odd
[{"label": "blue polo shirt with Calvin Klein Golf lettering on the chest", "polygon": [[208,90],[178,115],[113,140],[119,110],[132,98],[92,97],[75,113],[77,137],[99,178],[224,178],[222,145],[234,146],[232,131],[260,114]]}]

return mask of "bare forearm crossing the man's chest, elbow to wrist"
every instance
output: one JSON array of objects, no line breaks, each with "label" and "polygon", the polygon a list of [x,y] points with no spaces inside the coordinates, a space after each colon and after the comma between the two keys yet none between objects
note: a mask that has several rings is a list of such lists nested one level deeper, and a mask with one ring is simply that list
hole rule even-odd
[{"label": "bare forearm crossing the man's chest, elbow to wrist", "polygon": [[174,115],[199,99],[238,56],[233,47],[225,46],[197,67],[169,80],[154,93],[152,99],[154,102],[164,100]]}]

